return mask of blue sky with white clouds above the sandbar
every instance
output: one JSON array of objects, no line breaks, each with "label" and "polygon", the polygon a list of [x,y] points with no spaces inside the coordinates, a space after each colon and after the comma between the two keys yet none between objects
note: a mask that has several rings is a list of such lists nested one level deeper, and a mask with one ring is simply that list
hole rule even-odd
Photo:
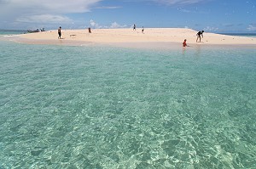
[{"label": "blue sky with white clouds above the sandbar", "polygon": [[129,28],[136,24],[255,33],[255,15],[256,0],[0,0],[0,29]]}]

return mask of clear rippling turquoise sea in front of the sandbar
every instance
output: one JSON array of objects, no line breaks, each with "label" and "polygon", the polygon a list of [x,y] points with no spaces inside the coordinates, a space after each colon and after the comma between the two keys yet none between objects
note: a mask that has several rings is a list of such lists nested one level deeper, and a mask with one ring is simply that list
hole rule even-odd
[{"label": "clear rippling turquoise sea in front of the sandbar", "polygon": [[256,168],[256,48],[0,41],[0,168]]}]

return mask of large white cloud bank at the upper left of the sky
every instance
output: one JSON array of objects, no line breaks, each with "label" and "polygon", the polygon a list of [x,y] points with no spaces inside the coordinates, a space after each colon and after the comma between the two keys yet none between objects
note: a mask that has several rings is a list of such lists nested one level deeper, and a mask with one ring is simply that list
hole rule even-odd
[{"label": "large white cloud bank at the upper left of the sky", "polygon": [[[0,25],[36,25],[40,21],[59,25],[69,24],[64,14],[90,12],[102,0],[0,0]],[[23,23],[23,24],[21,24]],[[29,25],[28,25],[29,24]],[[50,25],[49,25],[50,26]]]}]

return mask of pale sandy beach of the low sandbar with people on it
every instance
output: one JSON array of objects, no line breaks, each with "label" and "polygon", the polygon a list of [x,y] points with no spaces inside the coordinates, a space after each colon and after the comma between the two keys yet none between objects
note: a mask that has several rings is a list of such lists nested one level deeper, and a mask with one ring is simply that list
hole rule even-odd
[{"label": "pale sandy beach of the low sandbar with people on it", "polygon": [[181,45],[187,39],[188,45],[256,45],[256,38],[234,37],[204,32],[201,42],[196,42],[197,31],[185,28],[148,28],[133,31],[132,29],[95,29],[91,33],[84,30],[61,30],[58,39],[57,30],[28,33],[21,35],[18,42],[36,44],[113,44],[119,46],[128,44],[131,47],[140,45],[152,46],[166,42]]}]

